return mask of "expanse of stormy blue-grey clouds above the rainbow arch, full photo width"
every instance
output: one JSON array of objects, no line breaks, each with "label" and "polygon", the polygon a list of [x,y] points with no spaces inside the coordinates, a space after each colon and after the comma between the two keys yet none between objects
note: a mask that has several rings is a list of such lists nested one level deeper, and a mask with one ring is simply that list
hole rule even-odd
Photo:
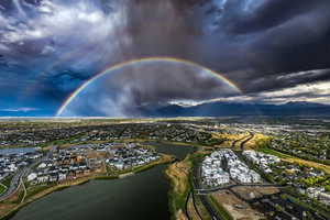
[{"label": "expanse of stormy blue-grey clouds above the rainbow arch, full photo width", "polygon": [[[4,0],[0,90],[63,100],[108,66],[145,56],[194,61],[245,94],[315,84],[328,72],[298,73],[330,67],[329,21],[328,0]],[[160,88],[148,101],[174,94],[185,92]]]}]

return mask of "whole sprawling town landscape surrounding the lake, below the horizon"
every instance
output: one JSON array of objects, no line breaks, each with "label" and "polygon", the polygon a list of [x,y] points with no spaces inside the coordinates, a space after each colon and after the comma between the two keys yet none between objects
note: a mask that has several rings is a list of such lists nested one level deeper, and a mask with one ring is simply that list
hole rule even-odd
[{"label": "whole sprawling town landscape surrounding the lake, below the horizon", "polygon": [[[151,179],[160,179],[157,184],[169,179],[170,190],[182,191],[169,201],[183,201],[175,206],[193,216],[195,199],[194,210],[201,210],[202,219],[221,219],[217,206],[237,219],[327,219],[323,210],[330,207],[330,176],[326,128],[222,120],[226,122],[210,118],[139,122],[73,119],[34,122],[37,127],[3,123],[0,202],[7,209],[0,213],[14,210],[13,198],[19,197],[14,206],[20,207],[47,190],[91,179],[119,178],[113,184],[123,184],[128,183],[121,182],[124,177],[139,179],[146,173]],[[169,165],[148,169],[166,163]],[[101,182],[86,185],[95,184]],[[188,199],[185,191],[189,187],[193,196]],[[167,193],[168,188],[155,190]],[[306,207],[309,205],[318,211]]]}]

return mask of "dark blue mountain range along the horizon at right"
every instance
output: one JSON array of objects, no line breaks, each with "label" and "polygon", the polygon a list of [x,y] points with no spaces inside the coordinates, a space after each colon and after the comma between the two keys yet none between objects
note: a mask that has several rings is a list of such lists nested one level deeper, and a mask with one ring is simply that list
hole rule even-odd
[{"label": "dark blue mountain range along the horizon at right", "polygon": [[168,105],[140,109],[145,117],[223,117],[223,116],[330,116],[330,106],[311,102],[284,105],[210,102],[183,107]]}]

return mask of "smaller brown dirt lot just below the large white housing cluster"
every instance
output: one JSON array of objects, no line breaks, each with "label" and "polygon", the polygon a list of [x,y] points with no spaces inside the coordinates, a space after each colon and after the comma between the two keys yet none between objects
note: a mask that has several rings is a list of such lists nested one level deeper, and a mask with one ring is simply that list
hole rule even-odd
[{"label": "smaller brown dirt lot just below the large white housing cluster", "polygon": [[232,189],[233,191],[238,193],[240,196],[242,196],[244,199],[254,199],[260,198],[263,195],[272,195],[279,193],[279,190],[276,187],[234,187]]}]

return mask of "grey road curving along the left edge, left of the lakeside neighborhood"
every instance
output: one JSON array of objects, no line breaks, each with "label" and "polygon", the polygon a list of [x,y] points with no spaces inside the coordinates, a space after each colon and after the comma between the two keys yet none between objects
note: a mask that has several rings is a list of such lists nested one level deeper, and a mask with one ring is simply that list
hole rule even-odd
[{"label": "grey road curving along the left edge, left of the lakeside neighborhood", "polygon": [[40,162],[42,161],[46,161],[50,158],[50,156],[53,154],[53,152],[57,148],[57,146],[52,146],[52,148],[47,152],[46,155],[44,155],[42,158],[36,160],[35,162],[33,162],[32,164],[30,164],[29,166],[19,169],[14,176],[11,179],[10,186],[7,189],[7,191],[4,191],[1,196],[0,196],[0,201],[3,201],[8,198],[10,198],[12,195],[14,195],[18,189],[20,188],[22,182],[23,182],[23,177],[26,176],[29,173],[31,173],[32,167],[34,167],[35,165],[37,165]]}]

